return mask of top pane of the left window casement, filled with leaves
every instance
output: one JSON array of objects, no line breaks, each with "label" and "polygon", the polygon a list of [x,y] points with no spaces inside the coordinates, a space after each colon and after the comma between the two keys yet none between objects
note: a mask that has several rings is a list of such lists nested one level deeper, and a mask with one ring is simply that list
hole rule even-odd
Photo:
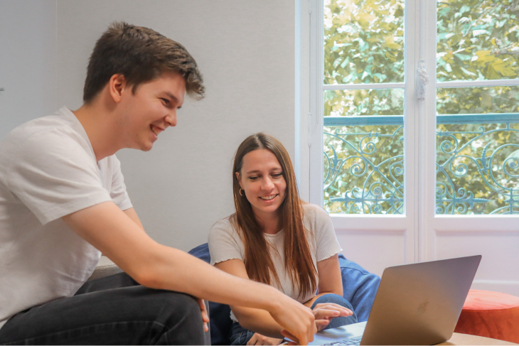
[{"label": "top pane of the left window casement, filled with leaves", "polygon": [[324,84],[404,81],[404,0],[324,0]]}]

